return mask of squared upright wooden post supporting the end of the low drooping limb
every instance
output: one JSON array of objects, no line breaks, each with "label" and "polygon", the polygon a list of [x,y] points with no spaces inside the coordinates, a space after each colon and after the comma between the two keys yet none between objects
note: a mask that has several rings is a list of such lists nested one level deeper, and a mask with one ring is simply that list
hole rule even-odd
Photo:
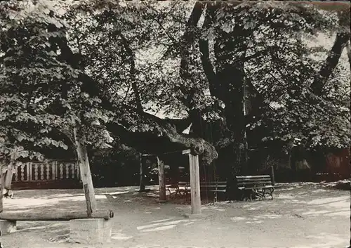
[{"label": "squared upright wooden post supporting the end of the low drooping limb", "polygon": [[201,214],[199,155],[192,155],[190,150],[184,150],[183,154],[189,156],[192,214]]}]

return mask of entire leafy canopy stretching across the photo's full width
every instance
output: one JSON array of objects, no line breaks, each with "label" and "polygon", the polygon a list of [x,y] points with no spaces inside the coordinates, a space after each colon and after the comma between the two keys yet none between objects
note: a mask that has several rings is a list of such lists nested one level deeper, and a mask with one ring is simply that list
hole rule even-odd
[{"label": "entire leafy canopy stretching across the photo's full width", "polygon": [[[21,150],[22,157],[43,157],[41,148],[69,149],[73,120],[91,148],[110,147],[106,125],[111,122],[131,132],[170,132],[163,122],[135,111],[139,103],[146,112],[186,116],[199,110],[207,122],[225,120],[223,99],[211,92],[204,73],[199,39],[208,41],[214,73],[223,63],[234,65],[245,57],[246,78],[271,106],[247,126],[266,126],[264,141],[302,138],[310,148],[350,145],[350,70],[344,58],[324,96],[316,98],[309,89],[329,48],[307,44],[320,33],[333,37],[341,28],[339,15],[290,2],[207,3],[213,19],[207,23],[208,13],[201,13],[196,27],[189,27],[193,5],[1,3],[1,156]],[[194,33],[190,46],[182,39],[187,28]],[[227,41],[234,42],[232,51],[216,53],[215,47],[222,49]],[[179,67],[185,48],[187,79]],[[220,127],[226,129],[225,123]],[[233,136],[223,131],[215,140],[226,146]]]}]

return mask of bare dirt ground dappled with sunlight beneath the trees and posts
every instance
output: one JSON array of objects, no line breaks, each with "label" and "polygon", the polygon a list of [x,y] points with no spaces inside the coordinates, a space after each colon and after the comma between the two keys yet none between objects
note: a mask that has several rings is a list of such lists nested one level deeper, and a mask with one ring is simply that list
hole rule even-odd
[{"label": "bare dirt ground dappled with sunlight beneath the trees and posts", "polygon": [[[204,216],[187,218],[190,205],[157,202],[137,187],[99,188],[99,209],[114,211],[112,243],[101,246],[70,244],[69,222],[19,221],[18,230],[1,237],[6,248],[16,247],[348,247],[350,192],[316,183],[281,185],[274,200],[217,202],[202,206]],[[107,200],[105,193],[114,197]],[[82,190],[19,190],[4,200],[4,209],[85,209]]]}]

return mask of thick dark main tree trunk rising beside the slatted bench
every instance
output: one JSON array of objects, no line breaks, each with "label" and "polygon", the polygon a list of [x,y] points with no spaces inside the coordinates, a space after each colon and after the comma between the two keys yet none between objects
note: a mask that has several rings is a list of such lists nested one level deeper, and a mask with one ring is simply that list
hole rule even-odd
[{"label": "thick dark main tree trunk rising beside the slatted bench", "polygon": [[[216,8],[216,6],[214,7]],[[225,11],[221,8],[218,11]],[[227,11],[227,10],[226,10]],[[237,23],[240,18],[235,18]],[[225,124],[234,138],[232,144],[232,158],[228,161],[227,183],[228,197],[234,198],[235,176],[248,174],[248,145],[246,141],[245,117],[245,74],[244,59],[248,46],[250,30],[243,30],[240,25],[235,25],[232,32],[220,32],[215,40],[216,56],[216,96],[225,103]],[[211,84],[211,81],[210,81]]]}]

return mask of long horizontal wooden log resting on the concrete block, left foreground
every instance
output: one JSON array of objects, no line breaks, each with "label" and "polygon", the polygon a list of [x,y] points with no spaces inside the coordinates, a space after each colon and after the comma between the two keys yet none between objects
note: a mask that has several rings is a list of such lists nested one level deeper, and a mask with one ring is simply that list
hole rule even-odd
[{"label": "long horizontal wooden log resting on the concrete block, left foreground", "polygon": [[77,218],[105,218],[110,219],[114,217],[112,210],[98,210],[91,213],[88,217],[86,211],[47,211],[41,210],[39,212],[6,212],[0,214],[0,218],[8,221],[69,221]]}]

